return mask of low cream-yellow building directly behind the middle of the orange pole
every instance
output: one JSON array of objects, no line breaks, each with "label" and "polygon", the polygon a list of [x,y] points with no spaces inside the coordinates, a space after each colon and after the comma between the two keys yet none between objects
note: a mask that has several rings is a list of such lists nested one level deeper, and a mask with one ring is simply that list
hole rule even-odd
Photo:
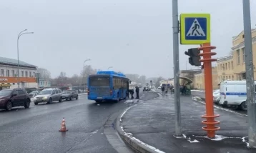
[{"label": "low cream-yellow building directly behind the middle of the orange pole", "polygon": [[[218,86],[218,74],[217,74],[217,66],[212,67],[212,89],[219,89]],[[193,79],[193,87],[195,89],[205,89],[205,71],[202,69],[201,72],[195,74]]]}]

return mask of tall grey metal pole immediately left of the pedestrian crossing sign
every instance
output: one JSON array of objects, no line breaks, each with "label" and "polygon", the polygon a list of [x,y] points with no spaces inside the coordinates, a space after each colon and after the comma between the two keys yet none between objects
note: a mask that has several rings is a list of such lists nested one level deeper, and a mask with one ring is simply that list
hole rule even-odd
[{"label": "tall grey metal pole immediately left of the pedestrian crossing sign", "polygon": [[175,135],[181,135],[180,92],[179,92],[179,19],[178,0],[172,0],[172,32],[173,32],[173,62],[174,62],[174,109]]}]

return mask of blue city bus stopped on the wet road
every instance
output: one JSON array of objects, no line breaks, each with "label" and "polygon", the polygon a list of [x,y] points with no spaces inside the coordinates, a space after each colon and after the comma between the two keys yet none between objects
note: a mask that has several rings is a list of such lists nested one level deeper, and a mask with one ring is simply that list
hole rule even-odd
[{"label": "blue city bus stopped on the wet road", "polygon": [[88,77],[88,99],[95,102],[126,99],[129,79],[115,71],[98,71]]}]

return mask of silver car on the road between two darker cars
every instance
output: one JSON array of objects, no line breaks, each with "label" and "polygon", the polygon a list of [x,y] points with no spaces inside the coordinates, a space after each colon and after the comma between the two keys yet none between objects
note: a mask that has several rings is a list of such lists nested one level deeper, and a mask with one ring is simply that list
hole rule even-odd
[{"label": "silver car on the road between two darker cars", "polygon": [[36,97],[34,97],[35,105],[39,103],[44,103],[44,102],[46,102],[47,104],[51,104],[54,101],[62,102],[61,89],[58,89],[58,88],[44,89],[39,94],[37,94]]}]

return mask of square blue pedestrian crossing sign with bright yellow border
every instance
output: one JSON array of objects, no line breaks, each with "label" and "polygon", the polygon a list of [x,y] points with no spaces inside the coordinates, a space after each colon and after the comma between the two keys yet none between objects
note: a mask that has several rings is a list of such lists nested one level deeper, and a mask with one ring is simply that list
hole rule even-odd
[{"label": "square blue pedestrian crossing sign with bright yellow border", "polygon": [[180,14],[180,44],[209,43],[210,14]]}]

